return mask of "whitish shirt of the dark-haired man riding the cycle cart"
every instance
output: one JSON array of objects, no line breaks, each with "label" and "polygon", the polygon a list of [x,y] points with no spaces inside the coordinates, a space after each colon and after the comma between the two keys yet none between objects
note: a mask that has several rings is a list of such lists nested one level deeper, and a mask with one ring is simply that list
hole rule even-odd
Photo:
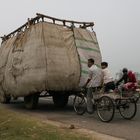
[{"label": "whitish shirt of the dark-haired man riding the cycle cart", "polygon": [[96,65],[92,65],[89,68],[89,79],[88,87],[99,87],[102,82],[102,70]]}]

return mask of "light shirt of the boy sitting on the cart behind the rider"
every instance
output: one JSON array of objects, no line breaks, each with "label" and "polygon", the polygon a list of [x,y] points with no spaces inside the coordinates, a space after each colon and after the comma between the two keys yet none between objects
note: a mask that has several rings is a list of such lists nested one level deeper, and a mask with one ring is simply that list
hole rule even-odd
[{"label": "light shirt of the boy sitting on the cart behind the rider", "polygon": [[113,77],[108,68],[102,69],[103,72],[103,83],[107,84],[113,81]]}]

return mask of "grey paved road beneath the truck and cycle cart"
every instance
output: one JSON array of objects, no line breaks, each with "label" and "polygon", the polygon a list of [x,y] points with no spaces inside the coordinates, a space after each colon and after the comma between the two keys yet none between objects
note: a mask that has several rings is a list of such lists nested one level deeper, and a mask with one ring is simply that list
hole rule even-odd
[{"label": "grey paved road beneath the truck and cycle cart", "polygon": [[116,112],[112,122],[103,123],[99,120],[96,112],[93,115],[87,113],[83,116],[76,115],[71,100],[72,98],[70,97],[69,104],[64,109],[55,108],[52,100],[49,98],[40,98],[39,106],[36,110],[25,109],[22,99],[13,101],[6,106],[12,110],[36,116],[44,120],[74,124],[76,127],[82,127],[128,140],[140,139],[140,104],[138,104],[138,111],[133,120],[124,120],[119,113]]}]

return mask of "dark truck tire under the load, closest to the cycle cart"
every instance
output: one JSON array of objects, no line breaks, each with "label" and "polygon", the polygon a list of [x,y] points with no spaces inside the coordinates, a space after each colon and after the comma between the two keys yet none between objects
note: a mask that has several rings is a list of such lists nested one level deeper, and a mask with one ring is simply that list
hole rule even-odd
[{"label": "dark truck tire under the load, closest to the cycle cart", "polygon": [[63,108],[68,104],[68,95],[65,94],[54,94],[53,95],[53,102],[54,105],[58,108]]}]

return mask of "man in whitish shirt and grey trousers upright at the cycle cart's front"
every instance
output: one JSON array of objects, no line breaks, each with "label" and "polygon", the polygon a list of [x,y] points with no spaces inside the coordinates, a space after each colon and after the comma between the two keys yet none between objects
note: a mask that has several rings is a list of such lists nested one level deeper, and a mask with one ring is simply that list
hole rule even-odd
[{"label": "man in whitish shirt and grey trousers upright at the cycle cart's front", "polygon": [[88,73],[88,79],[84,85],[84,87],[87,87],[87,111],[88,113],[93,113],[93,92],[95,92],[97,89],[101,88],[102,84],[102,71],[99,67],[97,67],[94,64],[94,59],[90,58],[88,59],[88,67],[89,67],[89,73]]}]

